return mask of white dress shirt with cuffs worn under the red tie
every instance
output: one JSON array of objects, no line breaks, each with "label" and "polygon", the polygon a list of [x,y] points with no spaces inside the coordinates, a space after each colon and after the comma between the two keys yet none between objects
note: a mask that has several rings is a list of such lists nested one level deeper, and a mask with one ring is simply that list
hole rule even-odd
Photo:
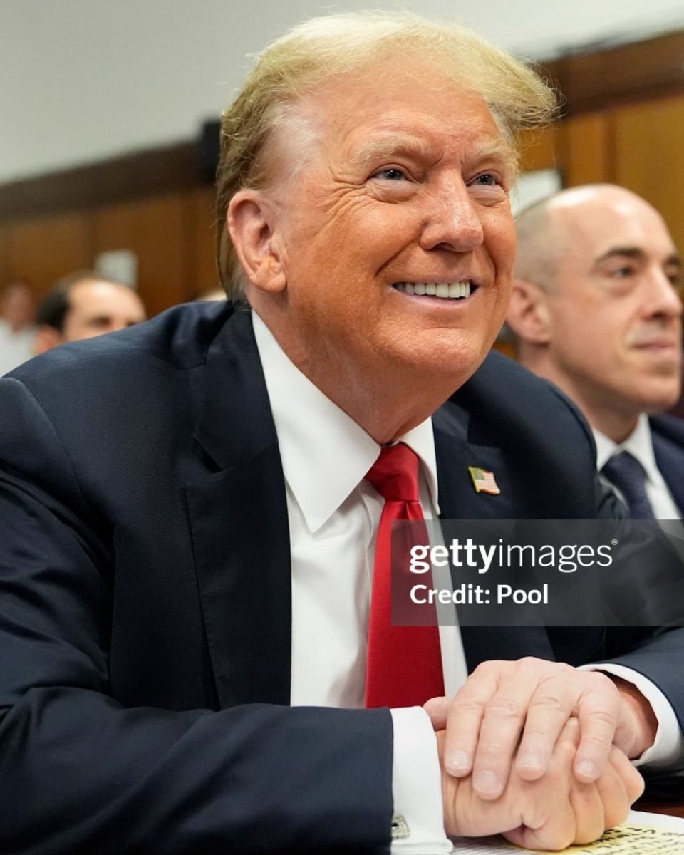
[{"label": "white dress shirt with cuffs worn under the red tie", "polygon": [[[291,703],[363,708],[374,545],[384,504],[364,478],[380,445],[299,371],[256,312],[252,319],[286,481],[292,559]],[[421,463],[424,515],[439,516],[431,420],[401,439]],[[445,692],[451,696],[467,676],[463,644],[457,626],[440,626],[439,638]],[[650,681],[620,666],[598,667],[633,681],[650,700],[659,696],[679,733],[674,711]],[[429,718],[420,707],[391,714],[394,812],[403,815],[410,828],[410,837],[393,841],[392,851],[451,852]],[[667,729],[671,735],[669,719]],[[678,747],[676,738],[664,751],[653,746],[643,760],[646,755],[669,760]]]}]

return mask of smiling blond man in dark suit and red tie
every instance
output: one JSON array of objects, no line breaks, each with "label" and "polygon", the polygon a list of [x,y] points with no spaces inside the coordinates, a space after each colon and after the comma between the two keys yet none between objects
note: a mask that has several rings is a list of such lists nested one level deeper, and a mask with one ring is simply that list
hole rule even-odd
[{"label": "smiling blond man in dark suit and red tie", "polygon": [[[0,850],[558,847],[626,815],[630,758],[680,759],[678,630],[417,628],[434,690],[363,709],[373,627],[405,638],[375,608],[387,509],[614,510],[575,409],[485,361],[509,133],[549,109],[457,27],[304,24],[224,117],[233,303],[0,381]],[[382,498],[397,450],[412,496]]]}]

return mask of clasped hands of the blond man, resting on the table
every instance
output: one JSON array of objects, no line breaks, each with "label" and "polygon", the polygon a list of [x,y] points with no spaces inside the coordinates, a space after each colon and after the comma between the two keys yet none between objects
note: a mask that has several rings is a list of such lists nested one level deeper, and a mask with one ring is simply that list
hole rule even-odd
[{"label": "clasped hands of the blond man, resting on the table", "polygon": [[531,657],[482,663],[453,699],[425,709],[448,834],[502,833],[528,848],[587,843],[643,792],[628,758],[652,744],[655,716],[599,672]]}]

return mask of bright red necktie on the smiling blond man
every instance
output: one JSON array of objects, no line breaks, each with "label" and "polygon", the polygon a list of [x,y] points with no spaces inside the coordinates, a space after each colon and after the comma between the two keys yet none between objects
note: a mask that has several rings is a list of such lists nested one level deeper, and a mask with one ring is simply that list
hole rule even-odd
[{"label": "bright red necktie on the smiling blond man", "polygon": [[[436,625],[392,626],[391,590],[392,522],[422,521],[419,542],[428,544],[428,534],[418,499],[418,458],[404,443],[388,445],[380,451],[380,457],[366,478],[385,499],[375,546],[366,706],[422,705],[428,698],[444,694],[439,629]],[[410,528],[415,530],[414,527]],[[395,554],[394,564],[395,568],[405,573],[406,585],[402,580],[404,593],[404,589],[408,592],[412,584],[408,579],[410,543],[403,544],[401,552],[401,555]],[[416,580],[423,584],[425,576],[416,577]]]}]

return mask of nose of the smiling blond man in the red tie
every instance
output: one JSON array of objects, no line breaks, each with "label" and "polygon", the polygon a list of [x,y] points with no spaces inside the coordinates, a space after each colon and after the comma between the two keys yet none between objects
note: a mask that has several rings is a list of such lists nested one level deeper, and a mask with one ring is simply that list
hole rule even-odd
[{"label": "nose of the smiling blond man in the red tie", "polygon": [[428,198],[420,239],[424,250],[468,252],[481,245],[481,205],[460,177],[435,188]]}]

